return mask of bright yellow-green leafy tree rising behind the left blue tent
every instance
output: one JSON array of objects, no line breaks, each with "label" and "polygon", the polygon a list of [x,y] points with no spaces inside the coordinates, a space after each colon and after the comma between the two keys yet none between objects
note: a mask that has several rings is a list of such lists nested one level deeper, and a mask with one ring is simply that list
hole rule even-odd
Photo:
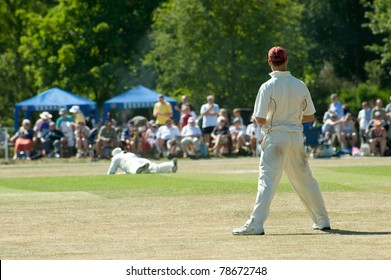
[{"label": "bright yellow-green leafy tree rising behind the left blue tent", "polygon": [[59,0],[25,15],[19,52],[37,91],[59,86],[101,104],[132,85],[132,65],[160,1]]}]

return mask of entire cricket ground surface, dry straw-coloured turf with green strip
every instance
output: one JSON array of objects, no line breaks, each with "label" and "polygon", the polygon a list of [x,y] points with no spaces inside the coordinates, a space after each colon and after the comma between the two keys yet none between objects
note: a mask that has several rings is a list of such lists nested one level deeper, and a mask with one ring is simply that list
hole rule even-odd
[{"label": "entire cricket ground surface, dry straw-coloured turf with green strip", "polygon": [[391,165],[370,160],[310,162],[331,233],[311,230],[283,177],[262,237],[231,235],[252,209],[256,159],[116,176],[108,162],[4,166],[0,258],[391,259]]}]

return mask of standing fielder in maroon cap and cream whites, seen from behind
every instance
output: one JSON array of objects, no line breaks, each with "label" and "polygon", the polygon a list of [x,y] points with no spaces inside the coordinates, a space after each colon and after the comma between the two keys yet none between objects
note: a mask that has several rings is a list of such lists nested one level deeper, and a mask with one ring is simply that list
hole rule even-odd
[{"label": "standing fielder in maroon cap and cream whites, seen from behind", "polygon": [[270,80],[259,89],[254,117],[265,137],[261,144],[258,192],[253,212],[234,235],[263,235],[264,223],[284,171],[309,213],[315,230],[331,230],[326,206],[312,177],[304,152],[303,122],[314,119],[315,108],[307,86],[287,71],[288,56],[282,47],[268,53]]}]

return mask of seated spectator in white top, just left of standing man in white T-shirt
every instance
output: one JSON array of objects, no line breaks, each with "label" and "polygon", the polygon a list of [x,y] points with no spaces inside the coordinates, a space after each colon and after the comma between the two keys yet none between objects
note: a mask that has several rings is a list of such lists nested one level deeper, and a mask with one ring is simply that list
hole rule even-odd
[{"label": "seated spectator in white top, just left of standing man in white T-shirt", "polygon": [[183,127],[181,131],[181,145],[184,157],[198,156],[200,152],[200,144],[202,141],[202,132],[198,125],[196,125],[195,118],[191,117],[188,124]]}]

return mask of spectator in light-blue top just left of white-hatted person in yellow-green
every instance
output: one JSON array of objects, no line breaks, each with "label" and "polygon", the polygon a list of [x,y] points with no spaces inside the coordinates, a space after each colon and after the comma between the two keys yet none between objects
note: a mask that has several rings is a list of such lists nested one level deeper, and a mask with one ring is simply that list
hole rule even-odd
[{"label": "spectator in light-blue top just left of white-hatted person in yellow-green", "polygon": [[72,155],[75,148],[75,121],[71,116],[67,115],[65,108],[61,108],[58,113],[60,116],[56,120],[56,127],[64,134],[66,139],[66,147],[64,147],[63,154]]}]

